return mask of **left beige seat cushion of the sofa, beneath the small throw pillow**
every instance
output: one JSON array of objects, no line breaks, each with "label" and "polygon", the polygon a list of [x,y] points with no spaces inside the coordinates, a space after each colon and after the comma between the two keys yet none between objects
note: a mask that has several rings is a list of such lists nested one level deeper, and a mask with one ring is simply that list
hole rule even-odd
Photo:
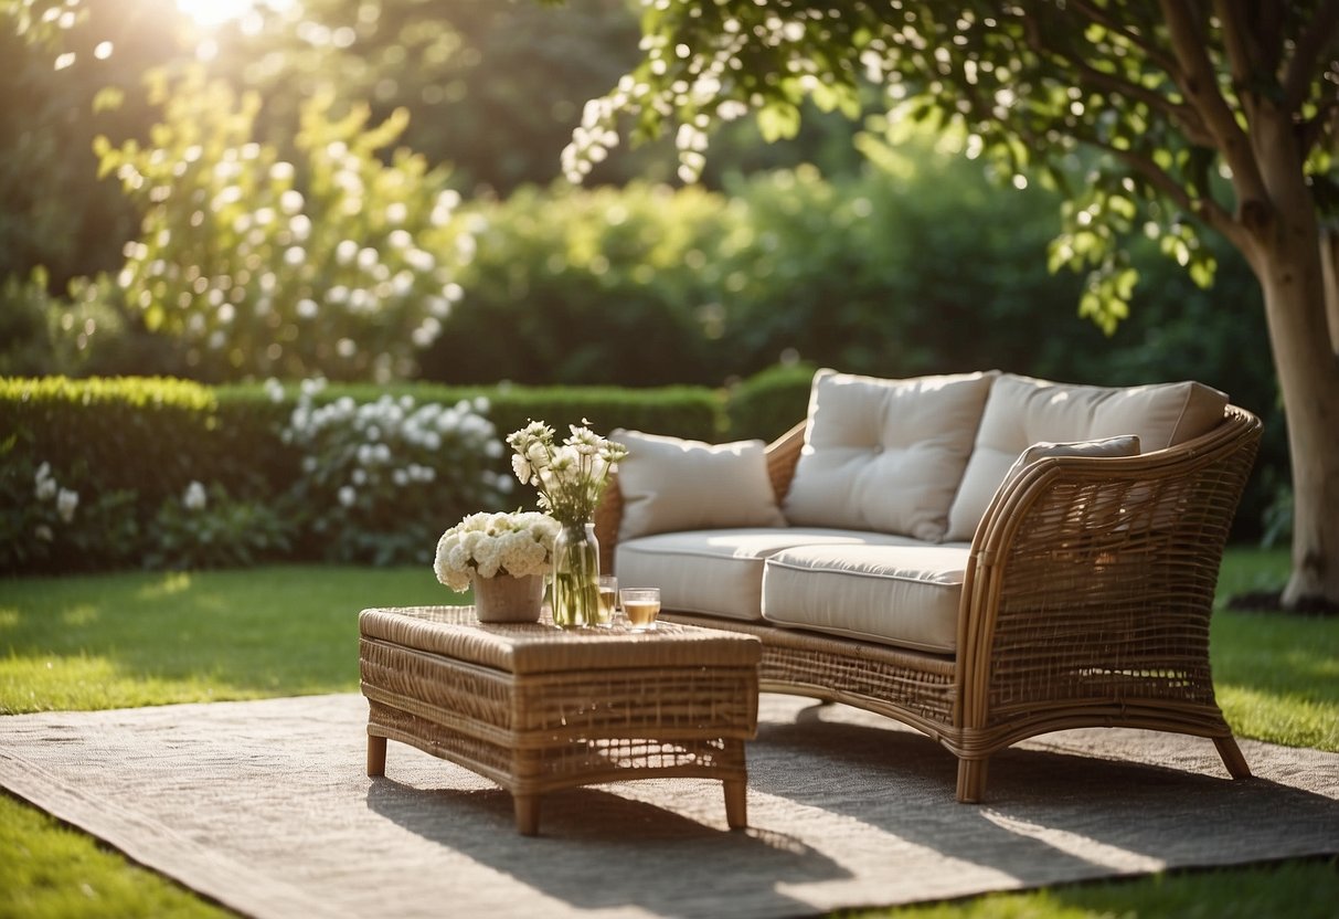
[{"label": "left beige seat cushion of the sofa, beneath the small throw pillow", "polygon": [[619,543],[620,587],[659,587],[665,611],[762,619],[763,561],[795,545],[912,544],[904,536],[823,528],[703,529]]}]

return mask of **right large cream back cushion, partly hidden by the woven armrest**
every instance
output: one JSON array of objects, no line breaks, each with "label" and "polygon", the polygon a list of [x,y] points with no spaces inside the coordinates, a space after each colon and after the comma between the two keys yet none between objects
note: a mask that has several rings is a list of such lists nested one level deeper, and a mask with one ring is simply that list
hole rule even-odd
[{"label": "right large cream back cushion, partly hidden by the woven armrest", "polygon": [[1129,434],[1145,453],[1162,450],[1213,430],[1227,405],[1225,393],[1194,382],[1105,387],[1002,374],[949,510],[948,539],[972,539],[1010,468],[1032,443]]}]

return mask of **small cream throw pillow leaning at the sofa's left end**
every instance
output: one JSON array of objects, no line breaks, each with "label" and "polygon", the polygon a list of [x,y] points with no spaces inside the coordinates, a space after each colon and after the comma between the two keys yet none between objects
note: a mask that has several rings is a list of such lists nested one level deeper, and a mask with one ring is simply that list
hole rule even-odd
[{"label": "small cream throw pillow leaning at the sofa's left end", "polygon": [[703,443],[615,430],[628,447],[619,462],[619,540],[651,533],[785,526],[767,477],[762,441]]}]

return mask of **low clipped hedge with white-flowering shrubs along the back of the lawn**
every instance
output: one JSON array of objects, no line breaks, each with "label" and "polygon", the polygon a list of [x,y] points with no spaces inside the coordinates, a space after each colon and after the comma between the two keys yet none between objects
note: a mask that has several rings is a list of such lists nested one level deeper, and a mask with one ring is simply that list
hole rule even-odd
[{"label": "low clipped hedge with white-flowering shrubs along the back of the lawn", "polygon": [[0,571],[423,563],[465,513],[533,505],[503,445],[530,419],[722,439],[735,415],[802,417],[810,375],[734,409],[692,386],[5,378]]}]

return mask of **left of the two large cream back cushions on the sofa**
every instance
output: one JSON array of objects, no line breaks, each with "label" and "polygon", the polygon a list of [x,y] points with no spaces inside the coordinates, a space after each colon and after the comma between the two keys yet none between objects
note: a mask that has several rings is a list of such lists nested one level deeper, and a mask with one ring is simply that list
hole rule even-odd
[{"label": "left of the two large cream back cushions on the sofa", "polygon": [[786,518],[940,541],[995,375],[880,379],[819,370]]}]

